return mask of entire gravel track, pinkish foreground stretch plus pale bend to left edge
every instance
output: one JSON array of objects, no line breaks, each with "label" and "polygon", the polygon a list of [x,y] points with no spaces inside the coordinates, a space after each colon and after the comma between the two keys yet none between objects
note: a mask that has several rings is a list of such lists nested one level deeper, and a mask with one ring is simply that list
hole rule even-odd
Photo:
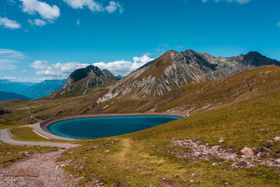
[{"label": "entire gravel track, pinkish foreground stretch plus pale bend to left edge", "polygon": [[55,164],[55,160],[63,151],[79,146],[78,144],[18,141],[13,139],[13,135],[7,129],[1,130],[0,133],[0,140],[6,144],[65,148],[50,153],[35,153],[8,169],[0,169],[0,186],[72,186],[71,183],[75,182],[67,181],[62,168]]}]

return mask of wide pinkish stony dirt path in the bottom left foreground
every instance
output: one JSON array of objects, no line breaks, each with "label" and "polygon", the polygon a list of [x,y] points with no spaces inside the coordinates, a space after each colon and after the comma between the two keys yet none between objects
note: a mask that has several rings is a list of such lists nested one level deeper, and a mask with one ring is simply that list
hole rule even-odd
[{"label": "wide pinkish stony dirt path in the bottom left foreground", "polygon": [[0,170],[0,186],[72,186],[61,167],[55,164],[63,151],[36,153]]}]

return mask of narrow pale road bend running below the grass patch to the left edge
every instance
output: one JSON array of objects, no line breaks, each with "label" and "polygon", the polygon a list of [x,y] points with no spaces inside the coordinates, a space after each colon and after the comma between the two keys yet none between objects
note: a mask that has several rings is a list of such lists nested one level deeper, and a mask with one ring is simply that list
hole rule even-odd
[{"label": "narrow pale road bend running below the grass patch to the left edge", "polygon": [[54,143],[48,141],[18,141],[13,139],[13,135],[8,132],[8,129],[0,131],[0,140],[6,144],[18,145],[18,146],[48,146],[48,147],[59,147],[59,148],[73,148],[80,146],[78,144],[67,144],[67,143]]}]

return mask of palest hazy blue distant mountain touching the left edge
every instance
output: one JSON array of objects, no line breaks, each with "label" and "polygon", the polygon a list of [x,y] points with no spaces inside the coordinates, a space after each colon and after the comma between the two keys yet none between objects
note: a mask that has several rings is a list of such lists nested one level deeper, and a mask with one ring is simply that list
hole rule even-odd
[{"label": "palest hazy blue distant mountain touching the left edge", "polygon": [[8,81],[6,79],[0,79],[0,90],[2,92],[15,92],[20,94],[20,92],[34,84],[36,83],[21,83]]}]

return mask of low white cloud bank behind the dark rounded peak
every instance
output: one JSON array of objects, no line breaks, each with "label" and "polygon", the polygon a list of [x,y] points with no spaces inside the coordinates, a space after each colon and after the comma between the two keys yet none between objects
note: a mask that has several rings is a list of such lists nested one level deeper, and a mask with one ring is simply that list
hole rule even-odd
[{"label": "low white cloud bank behind the dark rounded peak", "polygon": [[[148,56],[143,57],[134,57],[133,62],[118,60],[115,62],[96,62],[93,63],[94,66],[99,67],[100,69],[108,69],[114,75],[126,76],[135,69],[143,66],[147,62],[150,62],[153,58]],[[71,72],[76,69],[87,67],[90,64],[80,64],[78,62],[66,62],[66,63],[55,63],[50,64],[50,62],[43,60],[35,60],[32,62],[29,67],[36,69],[36,74],[41,76],[48,76],[49,78],[67,78]]]}]

